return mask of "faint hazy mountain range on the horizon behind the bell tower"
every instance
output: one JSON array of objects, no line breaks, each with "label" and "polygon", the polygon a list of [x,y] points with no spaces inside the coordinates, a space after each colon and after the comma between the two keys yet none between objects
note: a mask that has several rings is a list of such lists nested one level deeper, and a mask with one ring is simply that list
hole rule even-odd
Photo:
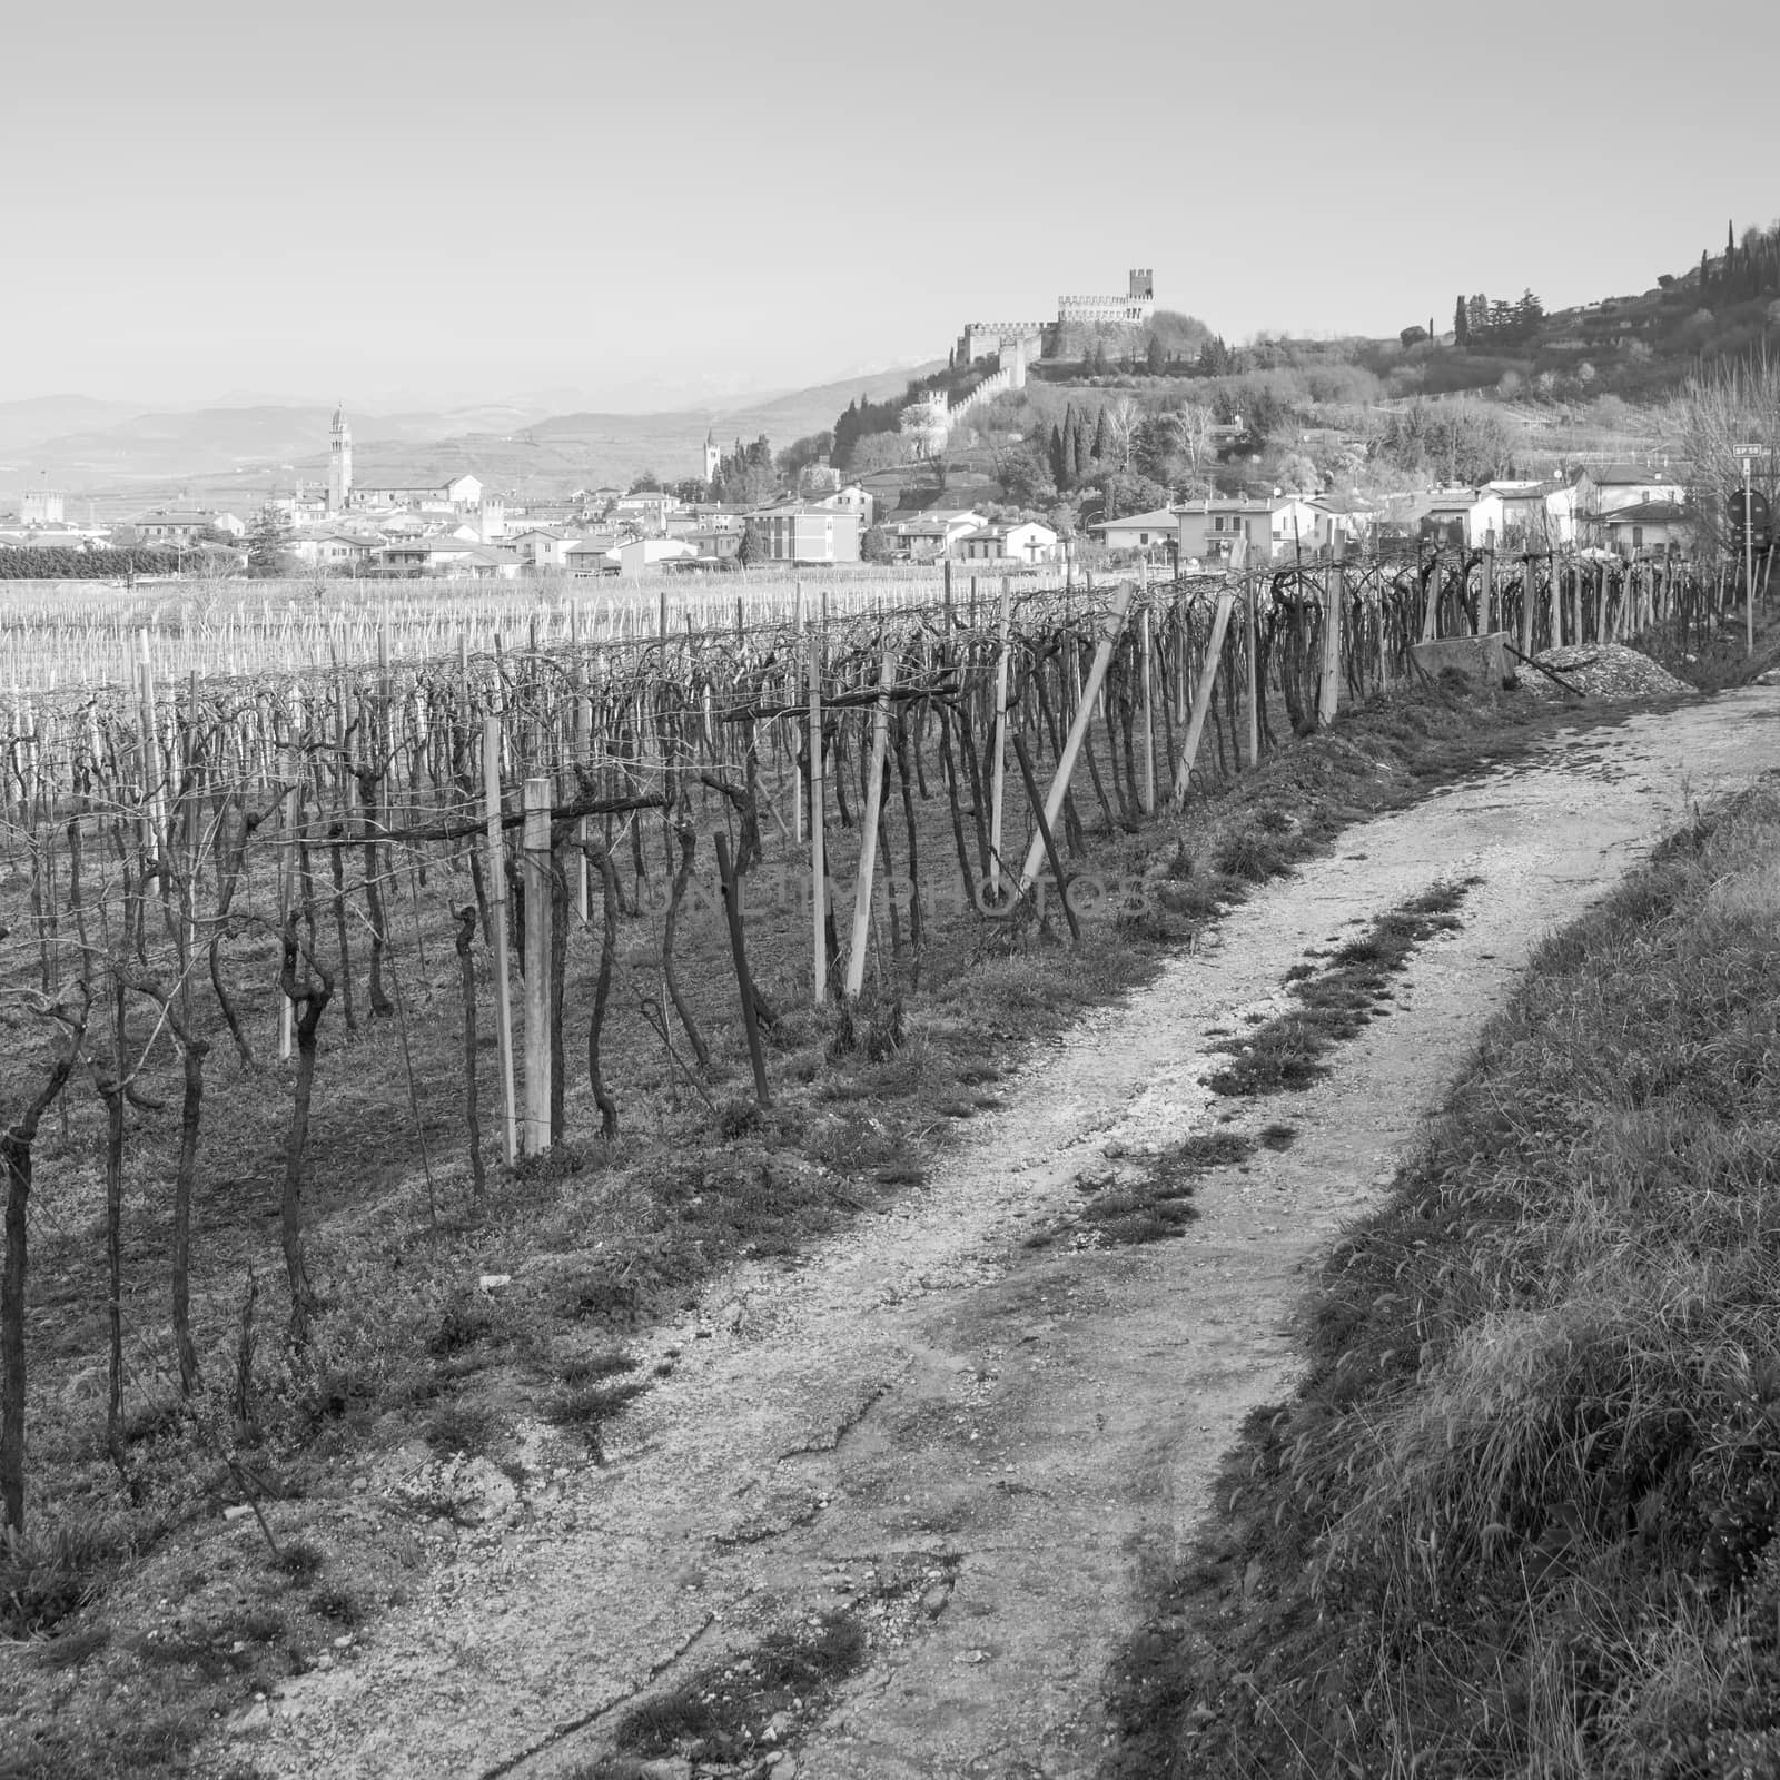
[{"label": "faint hazy mountain range on the horizon behind the bell tower", "polygon": [[[831,427],[854,397],[881,400],[933,368],[908,365],[730,406],[648,415],[552,415],[518,402],[360,413],[347,399],[354,475],[370,482],[397,468],[436,470],[443,481],[473,468],[497,488],[532,495],[627,482],[643,470],[698,475],[707,431],[723,443],[765,433],[781,449]],[[171,486],[240,506],[262,484],[326,475],[331,415],[333,404],[303,402],[148,413],[87,395],[0,402],[0,506],[30,486],[137,500]]]}]

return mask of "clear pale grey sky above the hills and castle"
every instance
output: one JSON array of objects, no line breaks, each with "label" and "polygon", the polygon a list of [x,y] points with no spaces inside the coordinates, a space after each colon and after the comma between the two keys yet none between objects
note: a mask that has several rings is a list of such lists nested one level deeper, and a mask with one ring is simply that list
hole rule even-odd
[{"label": "clear pale grey sky above the hills and castle", "polygon": [[691,404],[1130,265],[1230,338],[1394,333],[1780,210],[1766,0],[247,14],[9,20],[0,400]]}]

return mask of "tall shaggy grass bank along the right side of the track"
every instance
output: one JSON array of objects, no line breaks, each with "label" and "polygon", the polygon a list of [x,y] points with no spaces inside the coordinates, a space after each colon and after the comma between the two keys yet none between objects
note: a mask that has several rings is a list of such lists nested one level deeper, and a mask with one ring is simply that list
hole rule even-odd
[{"label": "tall shaggy grass bank along the right side of the track", "polygon": [[1109,1775],[1780,1771],[1780,790],[1536,952],[1308,1347]]}]

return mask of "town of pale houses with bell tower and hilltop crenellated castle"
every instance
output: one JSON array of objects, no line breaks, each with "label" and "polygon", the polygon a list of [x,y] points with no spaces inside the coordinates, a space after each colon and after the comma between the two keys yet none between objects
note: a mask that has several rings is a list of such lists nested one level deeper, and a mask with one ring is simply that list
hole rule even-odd
[{"label": "town of pale houses with bell tower and hilltop crenellated castle", "polygon": [[[1698,285],[1714,263],[1687,278]],[[1723,263],[1736,263],[1734,247]],[[1550,319],[1531,292],[1513,306],[1461,299],[1454,329],[1410,328],[1388,349],[1404,365],[1481,352],[1492,335],[1524,340],[1549,320],[1559,363],[1575,347],[1636,360],[1648,356],[1638,315],[1659,319],[1670,287],[1648,292],[1641,312],[1609,303]],[[98,525],[71,516],[78,502],[36,490],[0,516],[0,550],[148,550],[174,575],[511,582],[874,562],[1175,573],[1228,566],[1232,552],[1317,561],[1419,541],[1648,559],[1695,541],[1687,481],[1654,434],[1584,433],[1581,447],[1554,449],[1540,436],[1550,417],[1524,402],[1392,399],[1388,383],[1371,404],[1335,400],[1315,377],[1314,399],[1292,409],[1266,370],[1278,360],[1280,347],[1230,349],[1191,317],[1159,312],[1153,274],[1134,269],[1125,292],[1061,295],[1048,320],[967,322],[943,370],[910,379],[897,399],[849,404],[833,429],[785,449],[765,436],[723,445],[707,431],[691,477],[639,472],[625,486],[522,495],[473,470],[441,477],[383,457],[356,473],[342,402],[326,472],[274,488],[256,509],[180,500]],[[1218,376],[1244,367],[1248,377]],[[1595,379],[1586,361],[1570,376],[1577,393]],[[1501,381],[1499,393],[1518,393],[1518,372]],[[1550,370],[1538,381],[1559,388]],[[1070,399],[1061,415],[1057,395]],[[1468,481],[1451,473],[1461,459]]]}]

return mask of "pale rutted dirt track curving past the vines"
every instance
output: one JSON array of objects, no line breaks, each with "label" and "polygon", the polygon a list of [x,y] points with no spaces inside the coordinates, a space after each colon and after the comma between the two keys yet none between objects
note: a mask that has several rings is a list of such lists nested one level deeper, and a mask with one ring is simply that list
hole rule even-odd
[{"label": "pale rutted dirt track curving past the vines", "polygon": [[[778,1780],[1091,1775],[1102,1671],[1146,1582],[1191,1538],[1241,1420],[1292,1387],[1305,1271],[1388,1187],[1533,943],[1689,803],[1771,771],[1775,719],[1780,689],[1750,687],[1559,732],[1347,829],[997,1084],[926,1187],[733,1267],[653,1330],[637,1351],[668,1372],[605,1426],[602,1465],[541,1444],[518,1477],[450,1470],[459,1497],[482,1490],[454,1517],[472,1524],[433,1522],[406,1602],[217,1727],[205,1766],[570,1775],[635,1702],[840,1611],[863,1666],[778,1714]],[[1207,1088],[1228,1063],[1214,1047],[1287,1006],[1307,952],[1456,878],[1477,879],[1461,924],[1410,958],[1394,1011],[1328,1079],[1262,1100]],[[1198,1180],[1178,1239],[1072,1234],[1079,1182],[1282,1123],[1296,1141]],[[342,1534],[411,1515],[417,1463],[368,1476]]]}]

